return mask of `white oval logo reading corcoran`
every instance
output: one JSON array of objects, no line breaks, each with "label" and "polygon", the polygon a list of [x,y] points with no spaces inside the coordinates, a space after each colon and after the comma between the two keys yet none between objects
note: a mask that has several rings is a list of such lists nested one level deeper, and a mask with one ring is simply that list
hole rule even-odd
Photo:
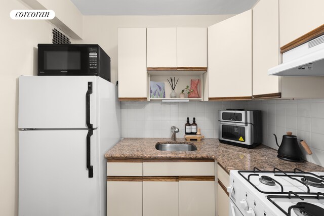
[{"label": "white oval logo reading corcoran", "polygon": [[12,10],[10,18],[13,20],[51,20],[55,17],[52,10]]}]

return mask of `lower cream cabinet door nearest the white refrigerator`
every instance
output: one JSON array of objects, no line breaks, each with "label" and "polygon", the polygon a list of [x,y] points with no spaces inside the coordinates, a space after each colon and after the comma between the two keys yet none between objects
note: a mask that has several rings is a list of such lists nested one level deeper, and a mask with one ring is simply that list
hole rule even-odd
[{"label": "lower cream cabinet door nearest the white refrigerator", "polygon": [[107,181],[107,216],[142,216],[143,182]]}]

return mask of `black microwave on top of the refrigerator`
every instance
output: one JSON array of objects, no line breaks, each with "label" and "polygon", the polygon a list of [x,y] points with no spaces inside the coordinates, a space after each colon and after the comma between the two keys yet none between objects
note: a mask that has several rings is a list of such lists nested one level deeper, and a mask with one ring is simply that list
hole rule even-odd
[{"label": "black microwave on top of the refrigerator", "polygon": [[110,81],[110,57],[96,44],[38,44],[37,75],[90,75]]}]

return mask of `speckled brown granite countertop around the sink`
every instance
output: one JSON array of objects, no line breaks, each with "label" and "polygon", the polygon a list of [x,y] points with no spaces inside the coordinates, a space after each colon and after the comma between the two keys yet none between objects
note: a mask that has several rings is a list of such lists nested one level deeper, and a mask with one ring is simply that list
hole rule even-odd
[{"label": "speckled brown granite countertop around the sink", "polygon": [[[310,162],[295,163],[277,158],[277,151],[260,145],[254,149],[246,149],[222,144],[218,139],[204,139],[201,142],[191,141],[197,151],[158,151],[157,142],[168,142],[169,138],[125,138],[106,152],[106,158],[213,158],[228,172],[231,169],[251,170],[258,167],[271,170],[299,168],[305,171],[324,171],[324,167]],[[185,141],[177,139],[178,142]]]}]

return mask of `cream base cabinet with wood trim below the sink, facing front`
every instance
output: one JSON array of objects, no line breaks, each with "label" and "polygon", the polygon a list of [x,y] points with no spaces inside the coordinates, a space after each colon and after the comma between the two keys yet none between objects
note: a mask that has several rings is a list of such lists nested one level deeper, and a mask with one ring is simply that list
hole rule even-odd
[{"label": "cream base cabinet with wood trim below the sink, facing front", "polygon": [[141,160],[108,159],[107,216],[216,215],[214,160]]}]

